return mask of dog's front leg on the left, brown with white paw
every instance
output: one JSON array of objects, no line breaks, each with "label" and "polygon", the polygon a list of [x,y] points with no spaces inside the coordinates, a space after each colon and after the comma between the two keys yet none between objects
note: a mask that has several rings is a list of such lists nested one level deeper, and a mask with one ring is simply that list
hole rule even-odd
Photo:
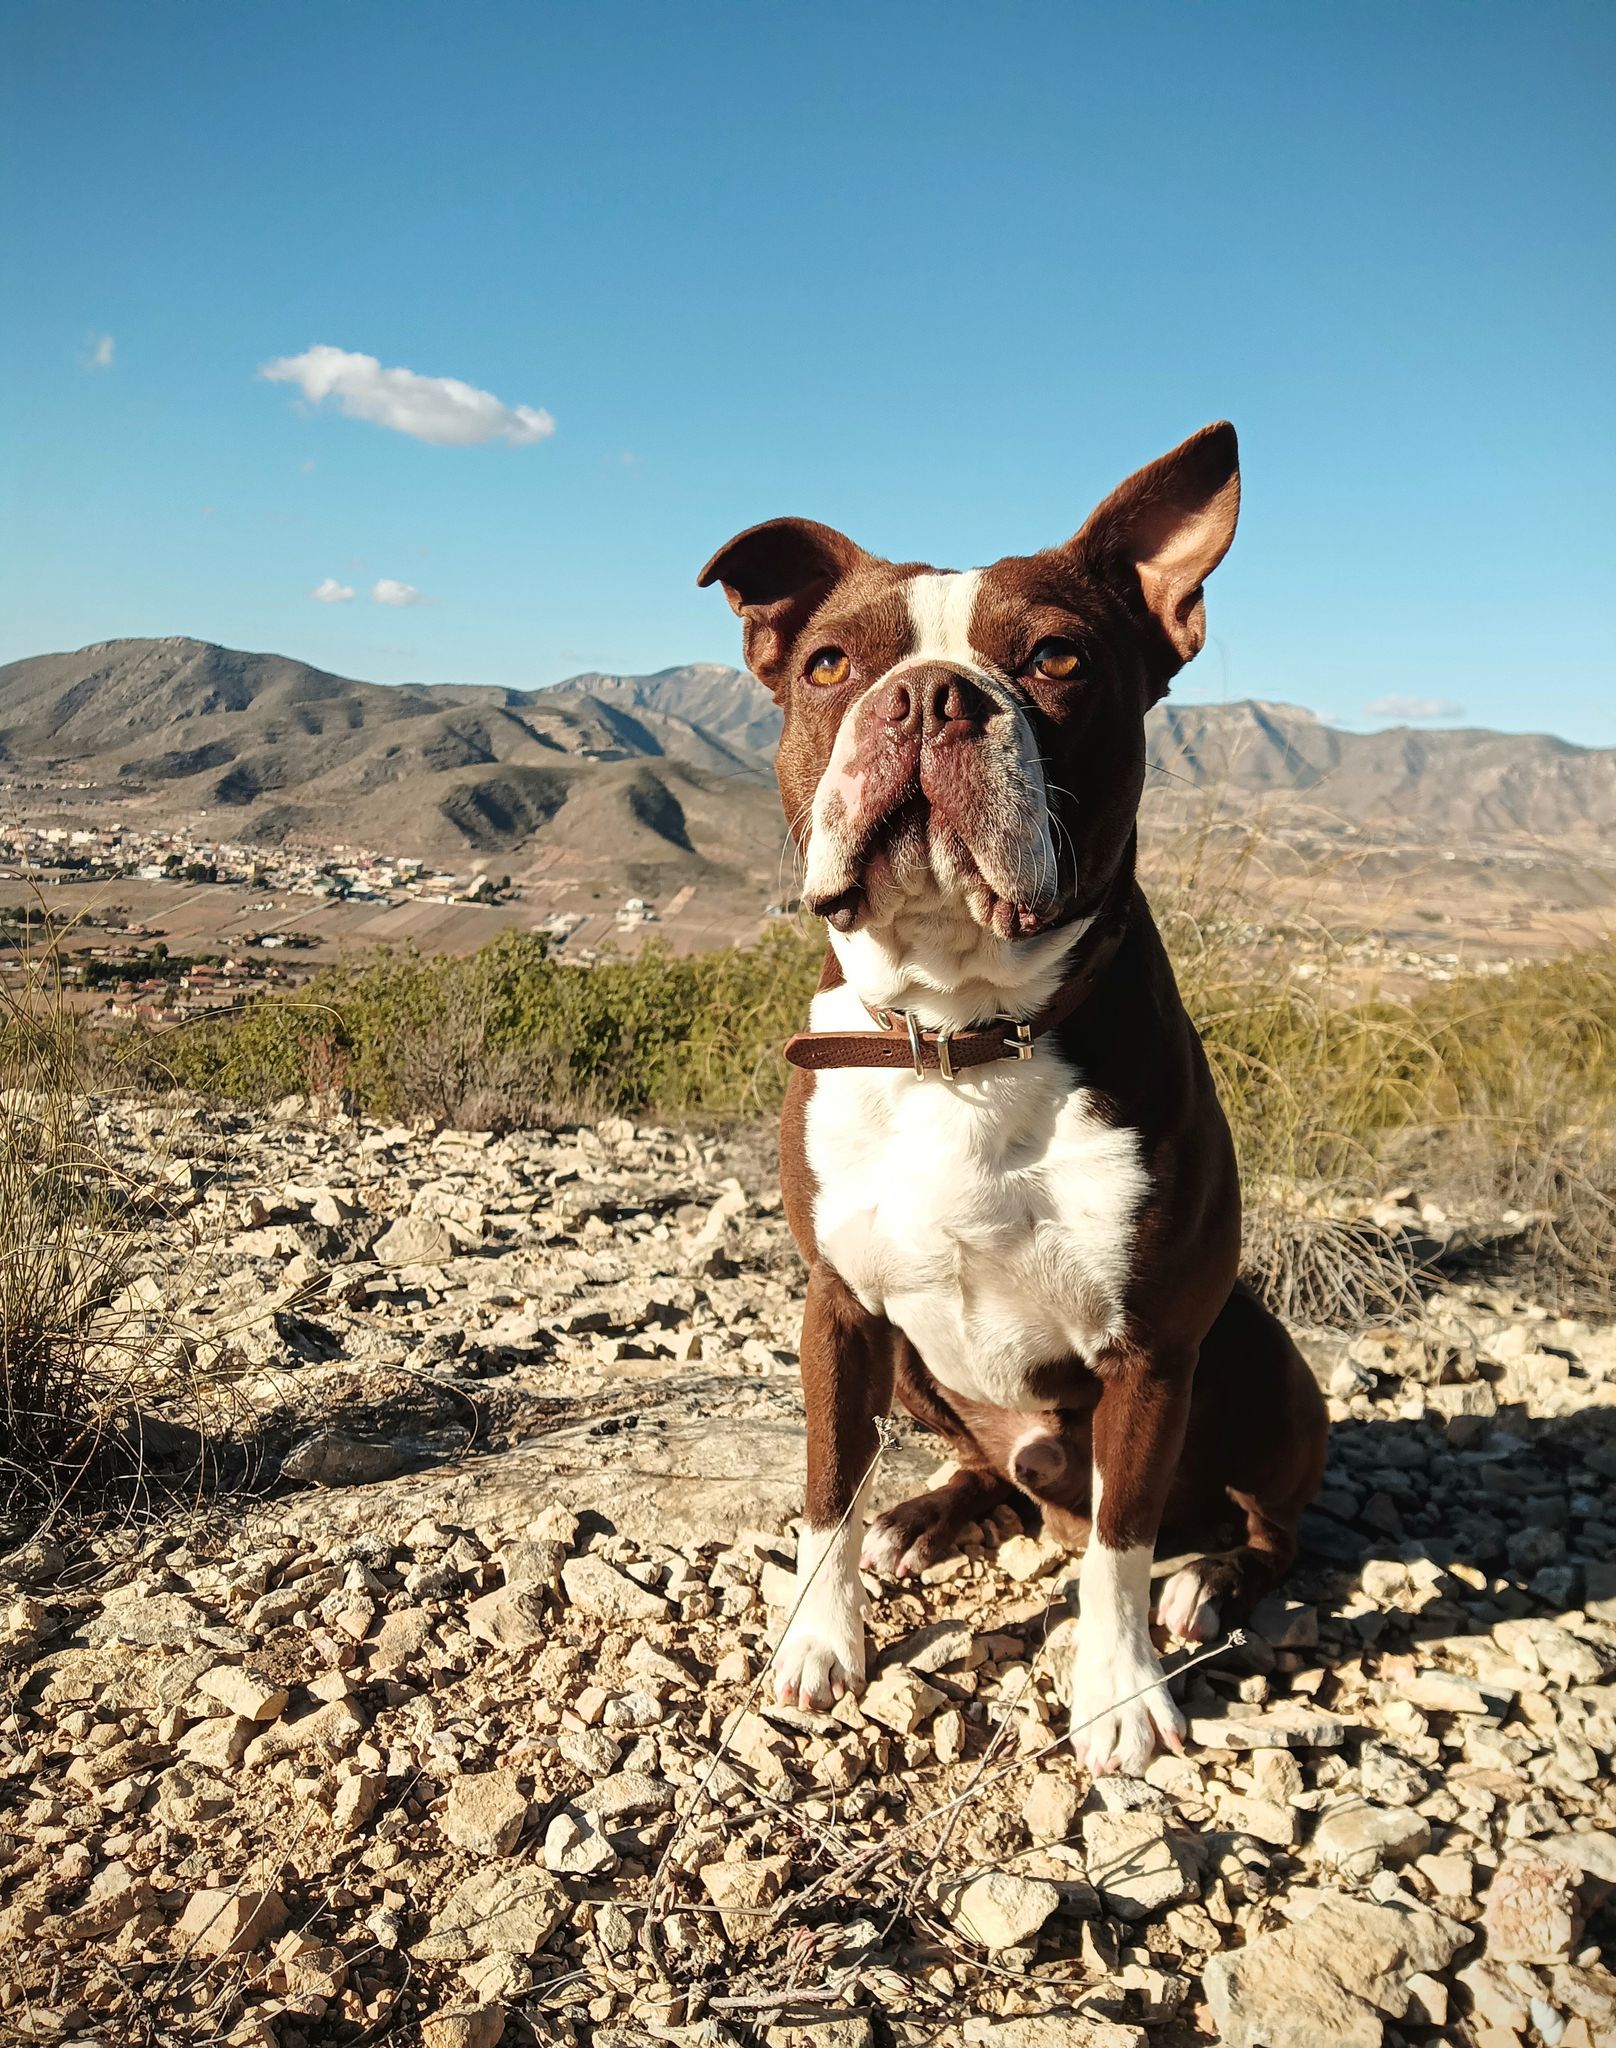
[{"label": "dog's front leg on the left, brown with white paw", "polygon": [[797,1595],[774,1653],[774,1698],[830,1708],[864,1683],[858,1548],[879,1423],[893,1399],[893,1331],[823,1260],[809,1270],[803,1309],[803,1399],[807,1501]]}]

